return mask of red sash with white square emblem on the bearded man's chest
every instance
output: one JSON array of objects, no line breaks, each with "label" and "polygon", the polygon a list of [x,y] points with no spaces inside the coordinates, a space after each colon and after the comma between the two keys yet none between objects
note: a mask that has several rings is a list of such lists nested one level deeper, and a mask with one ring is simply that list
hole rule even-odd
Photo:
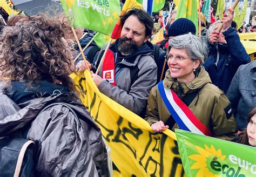
[{"label": "red sash with white square emblem on the bearded man's chest", "polygon": [[116,86],[117,84],[114,75],[114,53],[108,49],[102,64],[102,78],[108,80],[111,85]]}]

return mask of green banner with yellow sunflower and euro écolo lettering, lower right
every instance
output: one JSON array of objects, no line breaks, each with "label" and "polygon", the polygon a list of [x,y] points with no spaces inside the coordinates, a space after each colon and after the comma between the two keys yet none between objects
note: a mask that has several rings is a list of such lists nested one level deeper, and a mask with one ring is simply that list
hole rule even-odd
[{"label": "green banner with yellow sunflower and euro \u00e9colo lettering, lower right", "polygon": [[175,130],[187,176],[256,176],[256,148]]}]

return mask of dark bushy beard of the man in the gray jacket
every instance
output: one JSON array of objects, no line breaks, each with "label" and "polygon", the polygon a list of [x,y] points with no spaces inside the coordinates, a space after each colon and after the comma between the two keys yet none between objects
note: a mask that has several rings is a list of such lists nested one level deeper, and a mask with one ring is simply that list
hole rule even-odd
[{"label": "dark bushy beard of the man in the gray jacket", "polygon": [[[129,41],[129,43],[126,43],[127,41]],[[119,52],[125,56],[132,55],[138,49],[136,42],[132,39],[128,39],[126,36],[119,38],[117,47]]]}]

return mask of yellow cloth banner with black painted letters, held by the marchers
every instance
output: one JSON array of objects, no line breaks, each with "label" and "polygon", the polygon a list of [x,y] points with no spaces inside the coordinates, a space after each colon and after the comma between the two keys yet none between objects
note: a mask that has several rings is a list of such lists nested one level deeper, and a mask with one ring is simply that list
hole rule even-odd
[{"label": "yellow cloth banner with black painted letters, held by the marchers", "polygon": [[184,176],[174,132],[153,133],[144,119],[100,93],[89,71],[70,77],[111,148],[114,176]]}]

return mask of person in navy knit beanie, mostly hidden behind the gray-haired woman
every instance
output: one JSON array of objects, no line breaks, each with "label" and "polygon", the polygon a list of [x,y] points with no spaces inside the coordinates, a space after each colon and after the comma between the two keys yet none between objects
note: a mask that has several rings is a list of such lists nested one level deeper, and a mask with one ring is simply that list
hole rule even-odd
[{"label": "person in navy knit beanie, mostly hidden behind the gray-haired woman", "polygon": [[[193,35],[196,35],[196,25],[194,25],[194,23],[190,19],[187,19],[187,18],[176,19],[176,21],[174,21],[172,23],[172,25],[169,27],[168,35],[167,35],[169,41],[167,40],[167,42],[164,45],[164,46],[166,46],[166,49],[169,46],[169,42],[172,37],[186,35],[188,32],[191,32]],[[164,52],[158,58],[154,59],[157,63],[157,67],[158,67],[157,82],[164,79],[164,77],[160,78],[163,67],[164,67],[164,73],[169,69],[167,64],[164,63],[165,56],[166,56],[166,52]],[[165,64],[165,66],[164,66],[164,64]]]}]

